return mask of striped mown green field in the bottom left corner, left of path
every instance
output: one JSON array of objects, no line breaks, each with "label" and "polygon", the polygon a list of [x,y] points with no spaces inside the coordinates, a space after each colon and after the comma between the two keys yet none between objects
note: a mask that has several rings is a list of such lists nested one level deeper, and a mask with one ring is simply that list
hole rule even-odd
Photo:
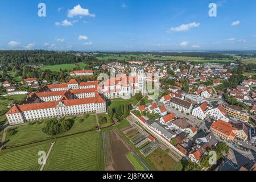
[{"label": "striped mown green field in the bottom left corner, left of path", "polygon": [[32,147],[19,147],[15,150],[4,150],[0,152],[0,171],[37,171],[38,152],[47,151],[50,144],[40,144]]}]

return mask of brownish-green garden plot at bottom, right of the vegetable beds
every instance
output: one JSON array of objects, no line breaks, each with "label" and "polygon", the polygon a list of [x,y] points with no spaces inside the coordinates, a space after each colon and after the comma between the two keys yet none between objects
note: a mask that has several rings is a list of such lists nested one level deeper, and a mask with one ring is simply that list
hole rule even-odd
[{"label": "brownish-green garden plot at bottom, right of the vegetable beds", "polygon": [[182,164],[180,162],[177,163],[160,147],[148,155],[147,158],[154,163],[159,171],[180,171],[182,169]]}]

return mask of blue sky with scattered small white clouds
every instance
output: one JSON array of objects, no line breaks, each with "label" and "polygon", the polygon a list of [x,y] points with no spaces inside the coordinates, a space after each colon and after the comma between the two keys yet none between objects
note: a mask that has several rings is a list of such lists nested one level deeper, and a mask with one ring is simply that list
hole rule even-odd
[{"label": "blue sky with scattered small white clouds", "polygon": [[255,9],[255,0],[2,0],[0,49],[256,50]]}]

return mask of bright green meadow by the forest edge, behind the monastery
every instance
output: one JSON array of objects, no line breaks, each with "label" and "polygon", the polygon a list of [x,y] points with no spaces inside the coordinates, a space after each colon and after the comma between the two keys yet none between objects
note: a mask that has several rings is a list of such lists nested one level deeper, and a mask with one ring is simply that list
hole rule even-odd
[{"label": "bright green meadow by the forest edge, behind the monastery", "polygon": [[[77,63],[79,65],[79,67],[81,69],[88,69],[88,65],[84,64],[84,63]],[[47,65],[44,67],[41,67],[40,69],[45,70],[45,69],[49,69],[51,71],[60,71],[60,69],[65,70],[67,69],[67,71],[72,71],[73,68],[76,68],[77,65],[76,64],[58,64],[58,65]]]}]

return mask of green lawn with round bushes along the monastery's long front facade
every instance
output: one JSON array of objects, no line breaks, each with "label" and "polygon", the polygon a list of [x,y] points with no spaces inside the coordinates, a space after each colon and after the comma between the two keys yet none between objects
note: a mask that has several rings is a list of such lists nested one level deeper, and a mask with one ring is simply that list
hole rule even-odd
[{"label": "green lawn with round bushes along the monastery's long front facade", "polygon": [[[73,124],[71,130],[63,134],[57,135],[56,137],[80,133],[82,131],[90,131],[93,129],[93,127],[97,126],[95,115],[90,115],[90,117],[84,119],[82,123],[79,121],[81,118],[84,117],[77,117],[75,119],[75,123]],[[14,135],[7,134],[6,141],[8,142],[6,143],[6,146],[19,146],[22,144],[34,143],[42,140],[55,138],[55,136],[47,135],[42,131],[45,125],[44,122],[30,123],[33,124],[15,127],[18,133]]]}]

